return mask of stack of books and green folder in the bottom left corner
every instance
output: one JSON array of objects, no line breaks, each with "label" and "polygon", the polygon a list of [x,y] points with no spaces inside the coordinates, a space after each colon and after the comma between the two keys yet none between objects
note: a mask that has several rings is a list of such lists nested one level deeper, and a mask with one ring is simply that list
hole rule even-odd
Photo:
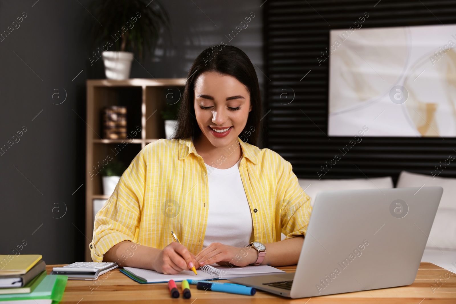
[{"label": "stack of books and green folder in the bottom left corner", "polygon": [[41,258],[37,254],[0,255],[0,304],[51,304],[62,299],[68,277],[47,275]]}]

